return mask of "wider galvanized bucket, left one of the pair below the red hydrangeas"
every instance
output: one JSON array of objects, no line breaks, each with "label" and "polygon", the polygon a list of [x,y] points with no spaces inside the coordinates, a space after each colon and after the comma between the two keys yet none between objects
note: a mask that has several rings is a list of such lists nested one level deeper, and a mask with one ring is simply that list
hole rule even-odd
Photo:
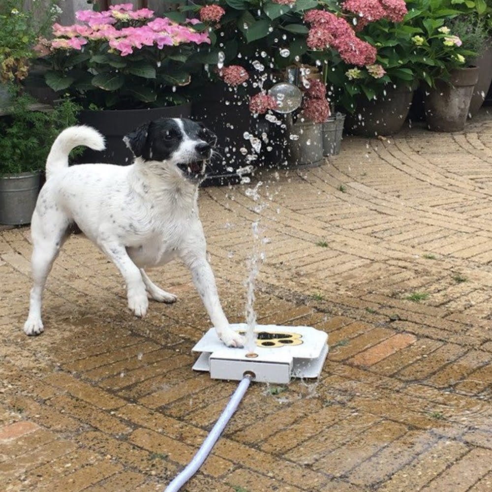
[{"label": "wider galvanized bucket, left one of the pair below the red hydrangeas", "polygon": [[287,118],[289,139],[288,164],[293,166],[319,165],[323,161],[322,123],[292,123]]}]

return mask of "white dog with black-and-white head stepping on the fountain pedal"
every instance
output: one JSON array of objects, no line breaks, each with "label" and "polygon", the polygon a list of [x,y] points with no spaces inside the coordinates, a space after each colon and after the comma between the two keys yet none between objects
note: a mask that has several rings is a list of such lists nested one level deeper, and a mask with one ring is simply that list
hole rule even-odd
[{"label": "white dog with black-and-white head stepping on the fountain pedal", "polygon": [[81,164],[68,167],[78,146],[104,149],[104,138],[89,126],[72,126],[55,140],[46,162],[46,184],[32,215],[32,276],[27,335],[43,331],[42,293],[55,258],[74,225],[109,257],[123,275],[128,307],[143,317],[149,301],[173,303],[146,268],[179,256],[191,270],[218,336],[228,346],[244,339],[229,327],[207,261],[198,217],[198,184],[215,135],[190,120],[162,118],[123,139],[135,155],[130,166]]}]

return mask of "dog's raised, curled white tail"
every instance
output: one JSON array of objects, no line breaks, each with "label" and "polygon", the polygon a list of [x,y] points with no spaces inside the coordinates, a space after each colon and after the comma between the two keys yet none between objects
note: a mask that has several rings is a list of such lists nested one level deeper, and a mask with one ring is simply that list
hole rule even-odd
[{"label": "dog's raised, curled white tail", "polygon": [[70,126],[58,135],[46,159],[46,179],[68,167],[68,154],[79,145],[102,151],[106,145],[104,137],[92,126]]}]

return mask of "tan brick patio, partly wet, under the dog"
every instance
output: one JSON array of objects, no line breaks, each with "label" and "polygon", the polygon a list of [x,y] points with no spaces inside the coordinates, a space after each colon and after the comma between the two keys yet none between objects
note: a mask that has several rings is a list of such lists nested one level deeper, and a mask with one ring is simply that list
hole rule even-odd
[{"label": "tan brick patio, partly wet, under the dog", "polygon": [[[230,320],[261,216],[259,322],[325,330],[330,354],[318,382],[253,384],[185,491],[492,491],[492,119],[342,147],[265,173],[257,202],[255,181],[201,192]],[[189,273],[155,270],[179,300],[137,319],[73,236],[27,338],[30,254],[29,228],[0,233],[1,489],[163,490],[236,387],[191,370],[209,321]]]}]

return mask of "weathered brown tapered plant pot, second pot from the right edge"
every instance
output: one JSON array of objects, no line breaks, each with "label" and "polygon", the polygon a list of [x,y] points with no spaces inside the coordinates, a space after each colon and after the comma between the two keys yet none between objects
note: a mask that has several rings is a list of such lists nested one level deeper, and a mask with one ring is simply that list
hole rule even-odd
[{"label": "weathered brown tapered plant pot, second pot from the right edge", "polygon": [[424,104],[430,130],[463,130],[478,74],[477,67],[453,70],[450,84],[439,80],[435,89],[426,93]]}]

